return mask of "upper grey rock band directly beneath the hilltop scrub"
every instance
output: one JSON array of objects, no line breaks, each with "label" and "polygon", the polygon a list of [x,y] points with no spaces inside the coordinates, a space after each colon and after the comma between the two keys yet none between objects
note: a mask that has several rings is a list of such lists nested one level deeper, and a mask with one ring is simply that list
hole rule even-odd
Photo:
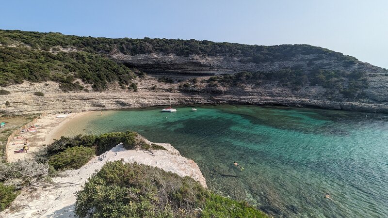
[{"label": "upper grey rock band directly beneath the hilltop scrub", "polygon": [[136,67],[146,72],[183,73],[195,75],[209,75],[233,73],[241,71],[277,71],[285,67],[300,66],[305,70],[313,68],[336,70],[361,70],[368,73],[385,74],[384,69],[369,63],[356,61],[356,64],[344,65],[343,61],[335,57],[322,57],[322,55],[298,55],[291,60],[283,62],[242,62],[241,57],[228,57],[227,55],[207,56],[189,55],[178,56],[175,54],[150,53],[139,55],[125,55],[112,53],[110,57],[128,66]]}]

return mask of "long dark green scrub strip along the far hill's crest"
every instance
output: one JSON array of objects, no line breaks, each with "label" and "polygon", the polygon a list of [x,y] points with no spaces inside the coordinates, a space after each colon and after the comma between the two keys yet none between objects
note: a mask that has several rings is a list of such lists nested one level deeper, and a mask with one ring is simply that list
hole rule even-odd
[{"label": "long dark green scrub strip along the far hill's crest", "polygon": [[317,54],[332,56],[349,64],[356,58],[344,56],[342,53],[322,47],[310,45],[258,46],[237,43],[215,43],[207,40],[181,39],[110,39],[63,35],[58,32],[0,31],[0,42],[9,45],[21,42],[32,48],[49,51],[52,47],[76,47],[87,52],[110,53],[117,50],[124,54],[136,55],[154,52],[172,53],[177,55],[218,55],[244,57],[242,62],[274,62],[291,60],[297,55]]}]

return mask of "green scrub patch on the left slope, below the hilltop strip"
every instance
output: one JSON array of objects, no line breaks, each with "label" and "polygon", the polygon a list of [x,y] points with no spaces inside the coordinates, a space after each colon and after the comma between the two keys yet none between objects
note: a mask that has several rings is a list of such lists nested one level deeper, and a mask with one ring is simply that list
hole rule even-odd
[{"label": "green scrub patch on the left slope, below the hilltop strip", "polygon": [[[1,31],[0,31],[1,32]],[[108,82],[129,84],[136,75],[125,65],[100,54],[88,52],[58,52],[33,50],[28,47],[0,47],[0,86],[31,82],[57,81],[64,91],[82,90],[73,83],[76,78],[93,84],[101,91]]]}]

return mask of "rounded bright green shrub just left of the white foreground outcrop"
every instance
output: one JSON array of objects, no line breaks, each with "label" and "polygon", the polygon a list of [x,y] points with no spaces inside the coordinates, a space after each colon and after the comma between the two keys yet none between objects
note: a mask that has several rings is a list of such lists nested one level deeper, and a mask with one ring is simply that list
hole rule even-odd
[{"label": "rounded bright green shrub just left of the white foreground outcrop", "polygon": [[51,156],[49,159],[49,165],[54,167],[55,170],[79,169],[94,155],[94,148],[82,146],[72,147],[66,149],[58,155]]}]

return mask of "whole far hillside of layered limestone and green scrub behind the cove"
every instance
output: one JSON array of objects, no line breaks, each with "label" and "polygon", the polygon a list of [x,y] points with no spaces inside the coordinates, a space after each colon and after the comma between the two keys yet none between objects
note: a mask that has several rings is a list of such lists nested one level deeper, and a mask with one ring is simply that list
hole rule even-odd
[{"label": "whole far hillside of layered limestone and green scrub behind the cove", "polygon": [[[24,81],[36,86],[29,89]],[[49,86],[47,81],[54,84]],[[42,82],[49,87],[38,85]],[[43,110],[50,102],[53,109],[74,110],[162,105],[166,103],[163,93],[171,88],[177,104],[388,111],[386,69],[310,45],[251,46],[0,30],[0,86],[10,92],[0,95],[0,100],[9,101],[9,110],[18,112],[30,110],[26,105]],[[46,94],[44,102],[31,97],[36,91]],[[114,100],[113,93],[118,95]],[[24,102],[16,99],[20,94],[26,94]],[[133,102],[132,95],[143,102]],[[93,102],[75,103],[87,96],[95,96]],[[58,102],[64,98],[66,102]]]}]

